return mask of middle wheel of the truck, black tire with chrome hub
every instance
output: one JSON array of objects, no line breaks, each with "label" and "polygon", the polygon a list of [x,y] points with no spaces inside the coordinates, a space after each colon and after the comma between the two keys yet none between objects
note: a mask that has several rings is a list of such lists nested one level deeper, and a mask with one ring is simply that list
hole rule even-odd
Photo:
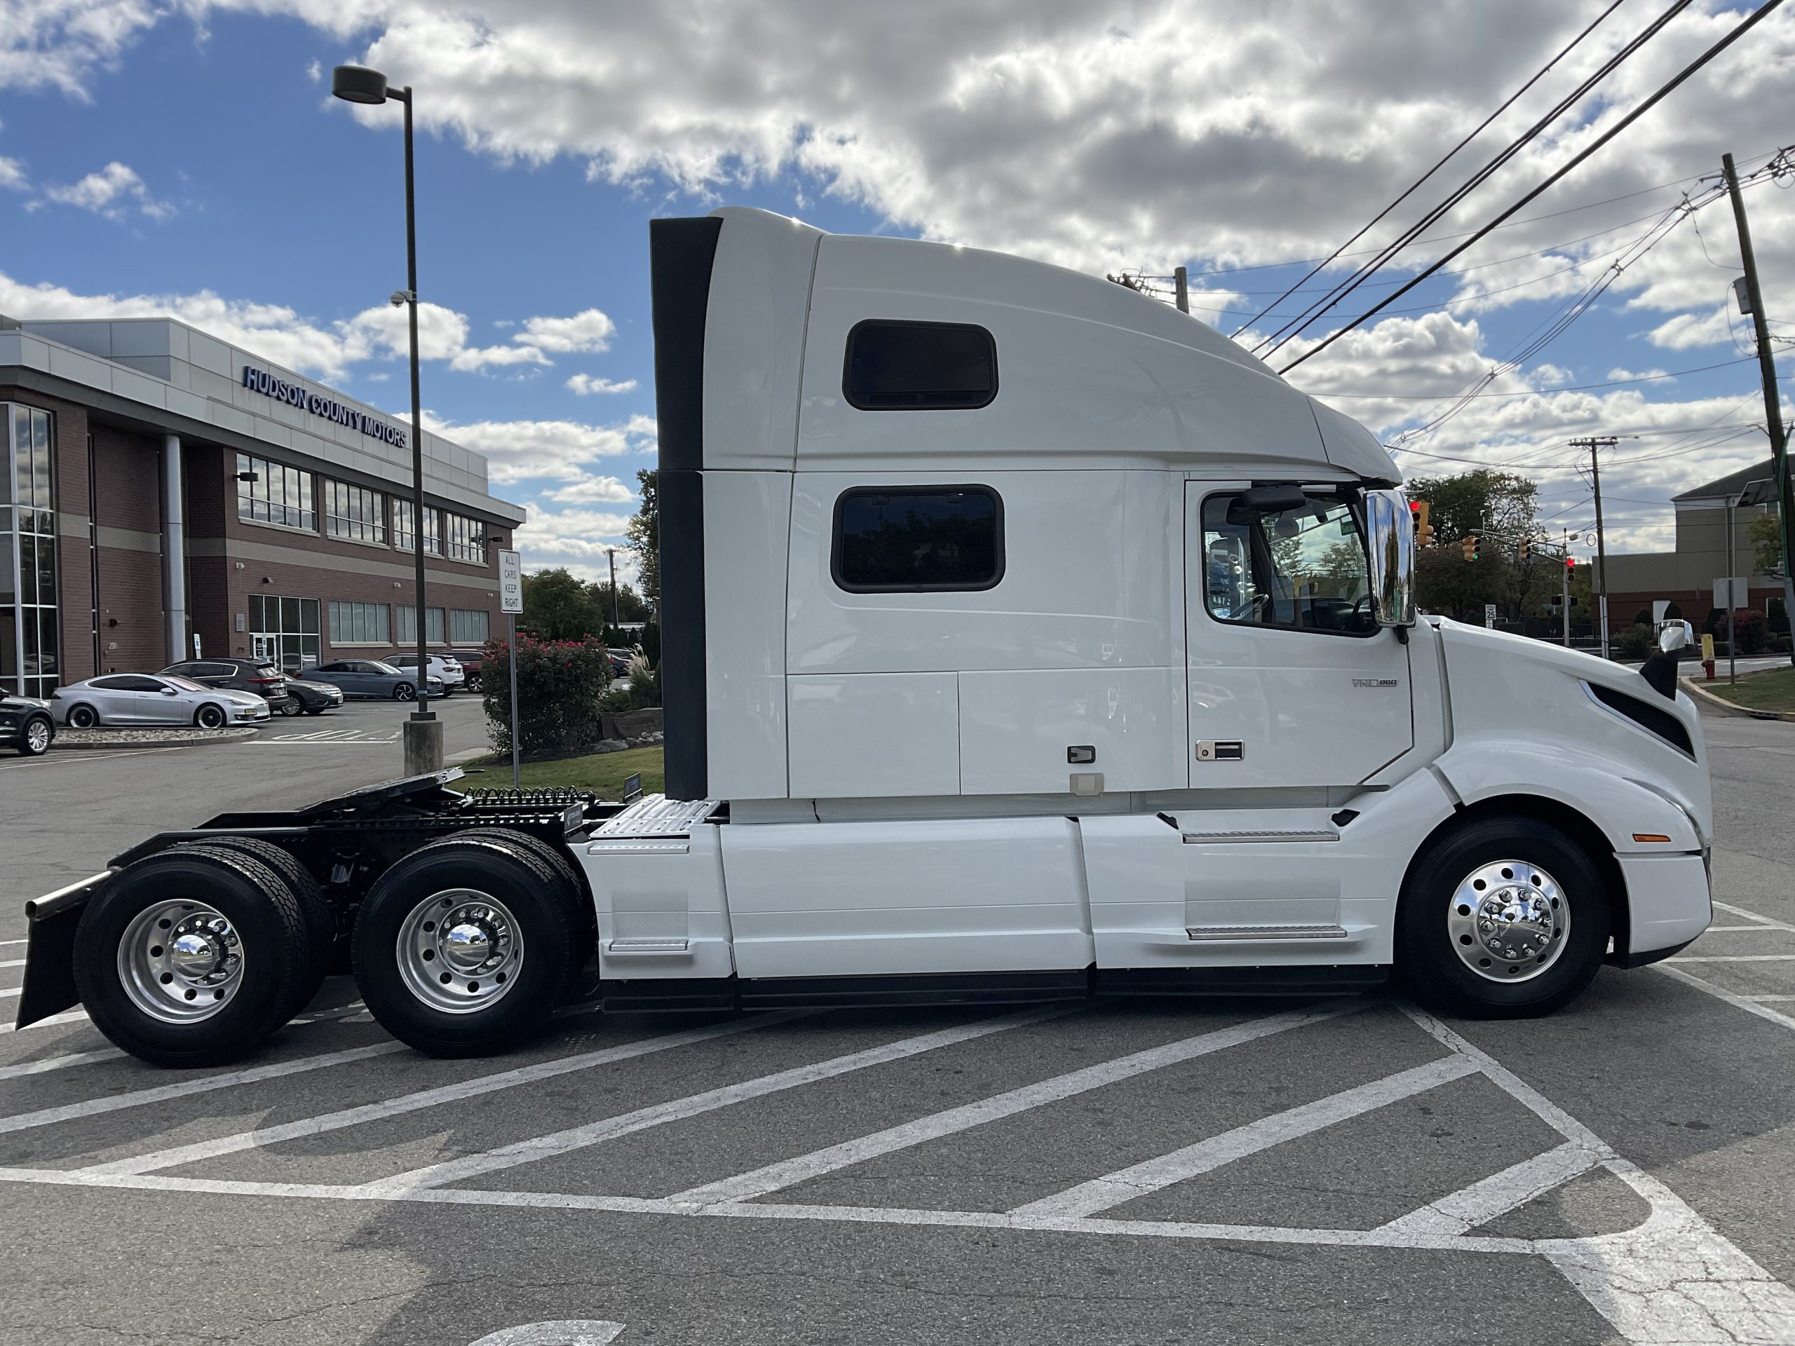
[{"label": "middle wheel of the truck, black tire with chrome hub", "polygon": [[503,1052],[562,1003],[580,910],[510,835],[411,852],[355,917],[355,985],[393,1037],[436,1057]]}]

